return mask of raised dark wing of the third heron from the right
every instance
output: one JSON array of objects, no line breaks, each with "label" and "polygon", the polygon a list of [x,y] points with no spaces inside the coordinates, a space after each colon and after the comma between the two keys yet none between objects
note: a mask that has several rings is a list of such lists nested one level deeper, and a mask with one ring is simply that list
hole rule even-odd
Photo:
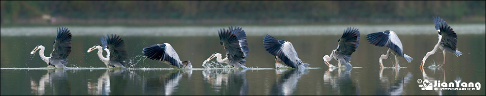
[{"label": "raised dark wing of the third heron from the right", "polygon": [[[351,27],[347,28],[347,30],[344,31],[343,36],[341,39],[338,40],[338,47],[337,51],[340,52],[341,54],[348,55],[348,57],[351,56],[351,54],[358,49],[359,45],[359,38],[360,37],[360,31],[358,29],[351,29]],[[346,61],[349,61],[350,58],[346,58]]]}]

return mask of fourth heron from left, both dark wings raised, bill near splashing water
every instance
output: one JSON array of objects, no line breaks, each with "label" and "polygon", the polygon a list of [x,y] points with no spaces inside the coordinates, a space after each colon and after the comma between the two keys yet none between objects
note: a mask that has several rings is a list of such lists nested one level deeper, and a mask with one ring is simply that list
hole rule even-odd
[{"label": "fourth heron from left, both dark wings raised, bill near splashing water", "polygon": [[241,27],[228,27],[229,30],[220,29],[218,31],[220,44],[226,49],[226,58],[222,59],[221,53],[212,54],[207,61],[216,57],[219,63],[225,63],[235,68],[248,69],[245,65],[245,58],[249,53],[246,33]]}]

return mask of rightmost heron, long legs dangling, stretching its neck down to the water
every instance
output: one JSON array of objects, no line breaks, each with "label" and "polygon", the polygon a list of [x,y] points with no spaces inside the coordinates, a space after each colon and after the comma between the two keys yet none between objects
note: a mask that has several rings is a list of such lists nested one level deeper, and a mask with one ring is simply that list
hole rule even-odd
[{"label": "rightmost heron, long legs dangling, stretching its neck down to the water", "polygon": [[446,52],[451,52],[457,57],[462,55],[462,52],[457,50],[457,35],[452,30],[452,28],[447,25],[446,21],[440,17],[434,17],[434,24],[435,24],[435,29],[439,33],[439,41],[435,45],[434,49],[432,51],[427,52],[425,54],[424,58],[422,59],[422,64],[420,64],[420,67],[423,67],[425,60],[427,60],[427,57],[430,55],[434,54],[435,51],[437,51],[437,48],[440,48],[442,50],[442,53],[444,54],[444,62],[440,64],[439,66],[442,66],[446,64]]}]

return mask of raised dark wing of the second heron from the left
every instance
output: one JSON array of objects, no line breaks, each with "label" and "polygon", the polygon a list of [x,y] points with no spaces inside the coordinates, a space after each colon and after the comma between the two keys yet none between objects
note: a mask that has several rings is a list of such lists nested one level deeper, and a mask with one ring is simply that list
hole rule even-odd
[{"label": "raised dark wing of the second heron from the left", "polygon": [[[107,44],[106,48],[110,50],[110,60],[115,60],[121,62],[122,65],[125,65],[123,61],[128,58],[128,53],[125,49],[125,42],[123,41],[123,39],[121,39],[120,36],[116,34],[111,34],[111,36],[106,35],[105,39]],[[103,48],[104,47],[105,45],[103,45]]]}]

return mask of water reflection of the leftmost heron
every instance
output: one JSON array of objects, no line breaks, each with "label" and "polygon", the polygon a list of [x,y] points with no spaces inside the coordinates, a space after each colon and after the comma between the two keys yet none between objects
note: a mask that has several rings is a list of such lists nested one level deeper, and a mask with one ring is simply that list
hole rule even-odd
[{"label": "water reflection of the leftmost heron", "polygon": [[[48,69],[47,73],[43,75],[39,82],[31,79],[30,85],[32,93],[35,95],[70,95],[70,84],[68,82],[67,70],[62,69]],[[46,90],[52,90],[46,93]]]}]

